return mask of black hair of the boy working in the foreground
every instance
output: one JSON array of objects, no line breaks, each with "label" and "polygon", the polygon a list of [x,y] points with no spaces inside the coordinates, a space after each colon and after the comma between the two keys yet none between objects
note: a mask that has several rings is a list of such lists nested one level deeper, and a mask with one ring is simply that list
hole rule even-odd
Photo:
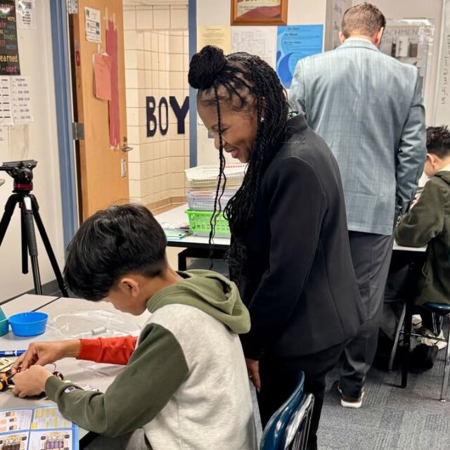
[{"label": "black hair of the boy working in the foreground", "polygon": [[111,206],[86,219],[68,246],[64,277],[86,300],[102,300],[121,276],[158,276],[166,268],[167,239],[141,205]]}]

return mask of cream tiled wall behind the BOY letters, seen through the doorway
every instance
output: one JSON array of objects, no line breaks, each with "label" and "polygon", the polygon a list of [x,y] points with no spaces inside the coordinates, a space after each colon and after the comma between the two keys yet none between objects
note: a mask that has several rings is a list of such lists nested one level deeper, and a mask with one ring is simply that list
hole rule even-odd
[{"label": "cream tiled wall behind the BOY letters, seen through the doorway", "polygon": [[[169,2],[168,2],[169,3]],[[169,106],[169,131],[146,136],[146,96],[158,103],[175,96],[179,105],[188,95],[188,11],[186,6],[134,6],[124,11],[125,77],[127,84],[130,197],[151,205],[184,195],[184,169],[189,160],[186,134],[177,134],[176,116]],[[165,127],[163,107],[162,126]]]}]

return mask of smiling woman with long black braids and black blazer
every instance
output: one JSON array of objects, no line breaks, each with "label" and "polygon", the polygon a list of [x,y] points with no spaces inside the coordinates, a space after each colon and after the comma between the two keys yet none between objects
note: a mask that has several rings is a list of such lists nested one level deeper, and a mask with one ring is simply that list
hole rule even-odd
[{"label": "smiling woman with long black braids and black blazer", "polygon": [[217,210],[224,152],[248,162],[224,212],[231,274],[252,320],[242,344],[263,425],[304,371],[315,396],[308,448],[316,449],[325,375],[363,321],[338,165],[302,115],[289,118],[281,82],[261,58],[206,46],[188,79],[219,150]]}]

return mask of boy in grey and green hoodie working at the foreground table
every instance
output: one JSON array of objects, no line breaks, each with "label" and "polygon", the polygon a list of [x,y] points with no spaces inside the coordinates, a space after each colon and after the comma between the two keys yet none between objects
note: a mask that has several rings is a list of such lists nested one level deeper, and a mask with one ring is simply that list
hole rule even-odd
[{"label": "boy in grey and green hoodie working at the foreground table", "polygon": [[[238,337],[250,330],[248,310],[224,276],[172,270],[166,244],[145,207],[115,206],[89,217],[68,247],[70,289],[120,311],[137,316],[148,309],[152,315],[136,349],[131,337],[31,345],[15,363],[14,371],[21,369],[13,392],[26,397],[45,390],[64,416],[108,437],[143,428],[153,450],[254,450]],[[104,394],[86,392],[41,366],[65,356],[127,367]],[[128,447],[112,441],[113,448]]]}]

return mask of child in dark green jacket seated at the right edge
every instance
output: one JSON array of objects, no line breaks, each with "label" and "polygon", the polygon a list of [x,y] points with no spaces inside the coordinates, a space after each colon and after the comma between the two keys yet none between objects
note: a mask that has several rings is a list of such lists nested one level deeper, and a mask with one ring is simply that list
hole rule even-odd
[{"label": "child in dark green jacket seated at the right edge", "polygon": [[[395,231],[399,245],[428,245],[419,280],[417,304],[450,304],[450,131],[447,127],[427,129],[425,174],[429,177],[420,197],[401,219]],[[422,325],[434,335],[439,321],[421,310]]]}]

